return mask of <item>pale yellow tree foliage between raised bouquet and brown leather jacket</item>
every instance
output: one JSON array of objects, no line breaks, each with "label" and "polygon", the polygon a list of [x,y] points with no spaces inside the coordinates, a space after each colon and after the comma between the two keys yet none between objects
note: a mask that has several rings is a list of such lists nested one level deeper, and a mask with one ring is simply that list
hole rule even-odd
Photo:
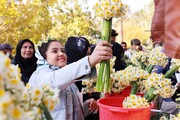
[{"label": "pale yellow tree foliage between raised bouquet and brown leather jacket", "polygon": [[[123,20],[123,41],[130,47],[130,41],[134,38],[141,40],[142,44],[147,44],[150,38],[151,21],[154,11],[153,2],[139,11],[127,14]],[[115,24],[117,26],[117,24]]]}]

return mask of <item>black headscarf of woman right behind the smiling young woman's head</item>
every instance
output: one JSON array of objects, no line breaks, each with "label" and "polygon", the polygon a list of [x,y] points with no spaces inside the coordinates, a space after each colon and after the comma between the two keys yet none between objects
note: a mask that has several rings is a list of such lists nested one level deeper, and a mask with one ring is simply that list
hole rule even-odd
[{"label": "black headscarf of woman right behind the smiling young woman's head", "polygon": [[[67,64],[78,61],[87,55],[89,41],[84,37],[69,37],[65,43]],[[79,91],[82,89],[82,81],[75,82]]]}]

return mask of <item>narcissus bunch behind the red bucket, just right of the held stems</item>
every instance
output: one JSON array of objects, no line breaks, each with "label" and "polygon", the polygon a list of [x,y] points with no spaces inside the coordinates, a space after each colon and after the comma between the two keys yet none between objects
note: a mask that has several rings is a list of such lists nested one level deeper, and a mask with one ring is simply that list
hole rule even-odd
[{"label": "narcissus bunch behind the red bucket, just right of the held stems", "polygon": [[111,92],[120,93],[129,86],[132,86],[131,94],[136,94],[138,90],[143,91],[142,81],[146,80],[148,76],[147,71],[131,65],[124,70],[111,73]]}]

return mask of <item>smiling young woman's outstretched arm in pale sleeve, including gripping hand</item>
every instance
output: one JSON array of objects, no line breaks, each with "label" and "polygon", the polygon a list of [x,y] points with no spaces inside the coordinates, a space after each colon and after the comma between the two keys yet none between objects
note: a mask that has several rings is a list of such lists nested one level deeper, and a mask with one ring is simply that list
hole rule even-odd
[{"label": "smiling young woman's outstretched arm in pale sleeve, including gripping hand", "polygon": [[[51,71],[50,68],[36,71],[30,78],[29,83],[51,84],[52,87],[63,89],[74,82],[74,79],[91,72],[91,67],[94,67],[102,60],[108,60],[112,57],[111,45],[108,42],[98,43],[92,55],[84,57],[77,62],[66,65],[65,67]],[[40,68],[39,68],[40,69]]]}]

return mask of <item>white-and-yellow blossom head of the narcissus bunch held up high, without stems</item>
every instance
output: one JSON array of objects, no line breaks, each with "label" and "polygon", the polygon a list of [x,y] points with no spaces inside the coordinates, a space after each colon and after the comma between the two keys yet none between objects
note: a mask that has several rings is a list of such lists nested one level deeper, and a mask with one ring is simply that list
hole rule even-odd
[{"label": "white-and-yellow blossom head of the narcissus bunch held up high, without stems", "polygon": [[127,6],[122,4],[121,0],[100,0],[93,9],[98,17],[109,20],[113,17],[123,16]]}]

